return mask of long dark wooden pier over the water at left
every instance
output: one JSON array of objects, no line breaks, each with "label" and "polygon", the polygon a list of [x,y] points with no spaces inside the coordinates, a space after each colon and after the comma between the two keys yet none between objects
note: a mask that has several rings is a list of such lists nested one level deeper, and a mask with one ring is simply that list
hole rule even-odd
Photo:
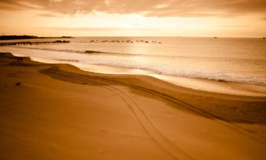
[{"label": "long dark wooden pier over the water at left", "polygon": [[18,41],[18,42],[0,42],[0,46],[18,46],[18,45],[38,45],[51,43],[70,43],[70,41]]}]

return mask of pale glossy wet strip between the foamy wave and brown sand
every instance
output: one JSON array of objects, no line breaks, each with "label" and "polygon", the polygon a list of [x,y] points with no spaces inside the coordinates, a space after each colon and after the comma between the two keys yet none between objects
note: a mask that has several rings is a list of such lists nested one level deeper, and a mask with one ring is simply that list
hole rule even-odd
[{"label": "pale glossy wet strip between the foamy wave and brown sand", "polygon": [[[25,56],[23,54],[17,54],[17,56]],[[40,63],[66,63],[74,65],[77,68],[101,74],[112,74],[112,75],[148,75],[159,80],[164,80],[165,82],[170,82],[173,85],[187,87],[193,90],[201,90],[206,92],[216,92],[228,95],[243,95],[252,97],[266,97],[266,86],[263,85],[253,85],[241,82],[228,82],[228,81],[218,81],[209,80],[203,78],[189,78],[189,77],[174,77],[171,75],[159,75],[152,73],[147,70],[133,69],[133,68],[118,68],[114,66],[107,65],[87,65],[78,62],[72,62],[69,60],[49,60],[45,58],[33,58],[33,60]]]}]

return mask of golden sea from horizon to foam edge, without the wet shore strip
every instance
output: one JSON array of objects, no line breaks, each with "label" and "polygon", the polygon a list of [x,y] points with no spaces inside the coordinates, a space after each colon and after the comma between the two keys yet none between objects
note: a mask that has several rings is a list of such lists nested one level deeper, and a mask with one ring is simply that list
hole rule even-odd
[{"label": "golden sea from horizon to foam edge, without the wet shore strip", "polygon": [[158,75],[266,85],[265,41],[234,38],[157,41],[163,44],[70,43],[15,46],[11,51],[35,58],[147,70]]}]

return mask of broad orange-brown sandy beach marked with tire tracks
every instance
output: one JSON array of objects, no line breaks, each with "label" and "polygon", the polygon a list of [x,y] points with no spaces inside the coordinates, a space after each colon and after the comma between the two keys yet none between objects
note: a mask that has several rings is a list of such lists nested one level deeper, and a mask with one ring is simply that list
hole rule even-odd
[{"label": "broad orange-brown sandy beach marked with tire tracks", "polygon": [[266,98],[0,53],[0,159],[265,159]]}]

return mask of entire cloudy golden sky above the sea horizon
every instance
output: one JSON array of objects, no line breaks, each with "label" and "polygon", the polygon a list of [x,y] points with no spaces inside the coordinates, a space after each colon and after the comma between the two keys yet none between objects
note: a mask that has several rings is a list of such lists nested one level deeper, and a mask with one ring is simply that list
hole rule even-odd
[{"label": "entire cloudy golden sky above the sea horizon", "polygon": [[0,0],[0,34],[265,37],[266,0]]}]

